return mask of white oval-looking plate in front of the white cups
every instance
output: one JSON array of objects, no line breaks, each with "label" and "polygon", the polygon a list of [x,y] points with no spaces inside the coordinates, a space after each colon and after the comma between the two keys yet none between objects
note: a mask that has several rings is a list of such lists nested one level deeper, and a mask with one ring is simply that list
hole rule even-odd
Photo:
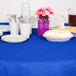
[{"label": "white oval-looking plate in front of the white cups", "polygon": [[26,41],[27,38],[23,35],[4,35],[1,40],[9,43],[20,43]]}]

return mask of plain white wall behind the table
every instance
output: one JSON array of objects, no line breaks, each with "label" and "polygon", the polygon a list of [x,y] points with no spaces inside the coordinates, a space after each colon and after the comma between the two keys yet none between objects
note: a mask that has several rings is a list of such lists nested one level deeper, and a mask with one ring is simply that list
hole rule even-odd
[{"label": "plain white wall behind the table", "polygon": [[[0,0],[0,22],[6,22],[7,14],[20,14],[21,3],[26,0]],[[31,13],[40,7],[50,6],[54,9],[55,15],[67,16],[68,8],[76,9],[76,0],[27,0],[31,4]]]}]

